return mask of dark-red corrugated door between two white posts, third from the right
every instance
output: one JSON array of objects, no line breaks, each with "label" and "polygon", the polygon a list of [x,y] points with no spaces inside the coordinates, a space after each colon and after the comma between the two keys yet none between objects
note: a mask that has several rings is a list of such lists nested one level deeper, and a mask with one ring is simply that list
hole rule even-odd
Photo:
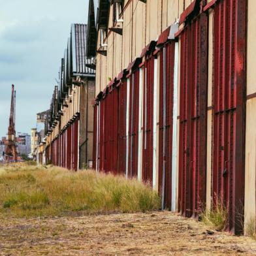
[{"label": "dark-red corrugated door between two white posts, third from the right", "polygon": [[175,43],[160,52],[159,99],[159,195],[163,208],[172,206],[172,123]]}]

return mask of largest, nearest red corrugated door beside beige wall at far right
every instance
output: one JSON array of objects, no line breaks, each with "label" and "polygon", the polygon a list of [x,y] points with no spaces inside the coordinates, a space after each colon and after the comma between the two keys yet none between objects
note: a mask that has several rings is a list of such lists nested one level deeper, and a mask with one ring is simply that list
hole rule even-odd
[{"label": "largest, nearest red corrugated door beside beige wall at far right", "polygon": [[214,10],[212,197],[236,234],[244,215],[246,8],[246,0],[223,0]]}]

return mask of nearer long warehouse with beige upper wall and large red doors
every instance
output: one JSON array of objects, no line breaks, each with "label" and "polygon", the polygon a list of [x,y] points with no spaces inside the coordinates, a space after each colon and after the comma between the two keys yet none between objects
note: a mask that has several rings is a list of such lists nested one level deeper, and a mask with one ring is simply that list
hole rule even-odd
[{"label": "nearer long warehouse with beige upper wall and large red doors", "polygon": [[[150,182],[162,208],[256,213],[253,0],[90,0],[93,167]],[[249,53],[249,54],[247,54]]]}]

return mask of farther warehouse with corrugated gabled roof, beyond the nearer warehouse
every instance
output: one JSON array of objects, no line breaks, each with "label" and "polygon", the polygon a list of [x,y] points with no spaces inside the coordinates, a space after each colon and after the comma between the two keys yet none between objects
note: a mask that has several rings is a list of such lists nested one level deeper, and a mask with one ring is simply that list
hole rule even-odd
[{"label": "farther warehouse with corrugated gabled roof, beyond the nearer warehouse", "polygon": [[95,59],[86,57],[86,37],[87,25],[71,26],[50,113],[39,115],[45,120],[46,130],[46,137],[39,144],[39,163],[71,170],[92,165]]}]

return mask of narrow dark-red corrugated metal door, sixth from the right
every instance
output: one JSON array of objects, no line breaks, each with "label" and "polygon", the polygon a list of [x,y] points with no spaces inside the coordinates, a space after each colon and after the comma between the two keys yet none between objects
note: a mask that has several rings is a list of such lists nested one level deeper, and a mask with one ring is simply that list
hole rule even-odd
[{"label": "narrow dark-red corrugated metal door, sixth from the right", "polygon": [[126,170],[126,110],[127,81],[118,89],[118,174],[125,175]]}]

